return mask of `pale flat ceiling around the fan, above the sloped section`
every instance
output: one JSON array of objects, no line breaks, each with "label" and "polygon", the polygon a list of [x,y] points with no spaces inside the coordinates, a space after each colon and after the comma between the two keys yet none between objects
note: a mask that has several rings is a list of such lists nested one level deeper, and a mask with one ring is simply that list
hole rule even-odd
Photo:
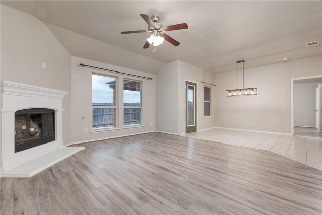
[{"label": "pale flat ceiling around the fan, above the sloped section", "polygon": [[[174,60],[223,73],[245,68],[322,55],[322,1],[1,1],[34,15],[50,25],[154,58],[163,65]],[[167,34],[178,47],[164,42],[155,53],[143,49],[149,33],[121,35],[121,31],[145,30],[140,14],[160,16],[163,26],[187,23],[189,29]],[[53,26],[53,28],[50,28]],[[57,30],[57,28],[56,28]],[[53,33],[55,32],[52,30]],[[67,31],[66,31],[67,32]],[[60,31],[61,33],[61,31]],[[70,52],[72,37],[62,44]],[[79,50],[81,51],[81,50]],[[74,53],[80,56],[81,53]],[[95,60],[95,56],[90,57]],[[144,58],[148,59],[148,58]],[[98,60],[100,61],[100,60]],[[101,60],[102,61],[102,60]],[[142,65],[146,66],[146,65]],[[128,66],[127,66],[128,67]],[[144,70],[144,69],[142,69]]]}]

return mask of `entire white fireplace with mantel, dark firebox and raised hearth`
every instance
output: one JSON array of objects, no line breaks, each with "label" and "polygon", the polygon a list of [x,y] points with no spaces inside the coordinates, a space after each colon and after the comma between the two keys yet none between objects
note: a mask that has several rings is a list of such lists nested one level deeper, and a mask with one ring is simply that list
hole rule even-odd
[{"label": "entire white fireplace with mantel, dark firebox and raised hearth", "polygon": [[0,80],[0,178],[31,177],[85,149],[63,144],[67,93]]}]

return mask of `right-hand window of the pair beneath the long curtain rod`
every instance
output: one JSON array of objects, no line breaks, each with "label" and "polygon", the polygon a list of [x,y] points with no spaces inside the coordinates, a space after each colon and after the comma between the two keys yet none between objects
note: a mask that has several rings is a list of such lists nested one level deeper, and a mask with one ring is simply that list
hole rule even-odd
[{"label": "right-hand window of the pair beneath the long curtain rod", "polygon": [[141,125],[141,82],[124,79],[123,82],[123,106],[124,126]]}]

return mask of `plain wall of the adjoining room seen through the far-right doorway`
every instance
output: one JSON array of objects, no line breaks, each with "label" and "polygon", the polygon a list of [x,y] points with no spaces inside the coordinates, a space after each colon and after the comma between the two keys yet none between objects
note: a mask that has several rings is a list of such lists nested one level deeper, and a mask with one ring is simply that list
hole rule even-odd
[{"label": "plain wall of the adjoining room seen through the far-right doorway", "polygon": [[315,94],[318,84],[322,84],[322,82],[294,84],[294,126],[315,128]]}]

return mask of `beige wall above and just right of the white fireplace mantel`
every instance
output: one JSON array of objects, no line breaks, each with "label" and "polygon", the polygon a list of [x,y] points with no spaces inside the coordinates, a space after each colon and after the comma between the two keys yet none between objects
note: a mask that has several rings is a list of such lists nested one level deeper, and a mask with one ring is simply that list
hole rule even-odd
[{"label": "beige wall above and just right of the white fireplace mantel", "polygon": [[[63,141],[70,140],[71,56],[34,16],[1,4],[1,80],[67,91]],[[46,69],[42,68],[46,63]]]}]

